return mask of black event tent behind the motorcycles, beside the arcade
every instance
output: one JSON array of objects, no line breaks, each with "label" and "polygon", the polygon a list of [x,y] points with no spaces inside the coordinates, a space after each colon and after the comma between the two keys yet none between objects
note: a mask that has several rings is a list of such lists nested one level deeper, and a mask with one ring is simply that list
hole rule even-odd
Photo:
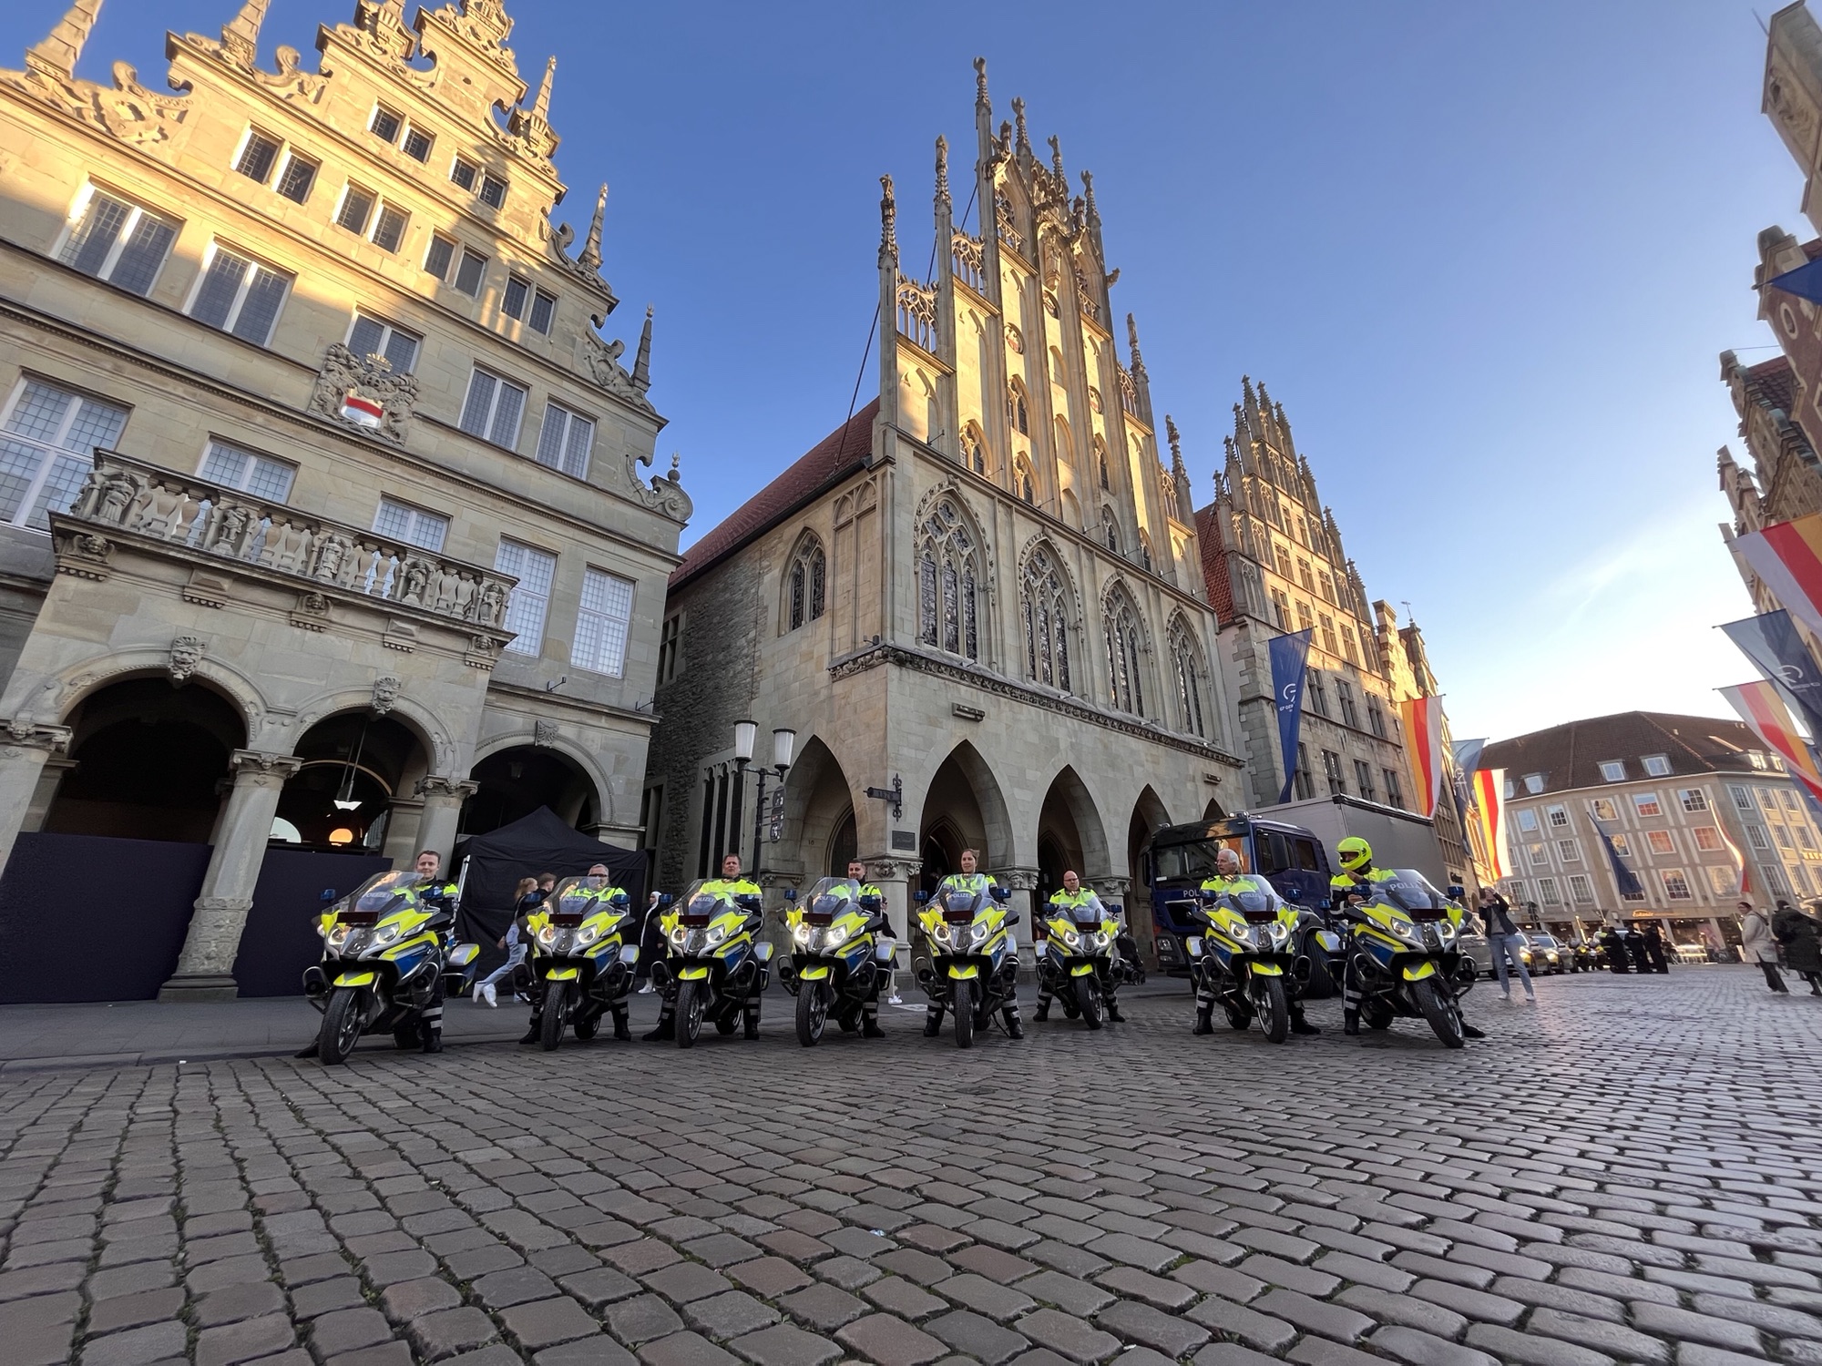
[{"label": "black event tent behind the motorcycles, beside the arcade", "polygon": [[[463,860],[468,863],[466,872],[461,871]],[[556,872],[561,882],[587,872],[594,863],[607,863],[614,885],[625,887],[634,912],[643,914],[645,852],[619,849],[572,831],[550,807],[539,807],[512,825],[457,841],[454,867],[463,880],[457,938],[481,945],[483,967],[497,967],[505,962],[505,954],[496,945],[512,923],[512,892],[519,878]]]}]

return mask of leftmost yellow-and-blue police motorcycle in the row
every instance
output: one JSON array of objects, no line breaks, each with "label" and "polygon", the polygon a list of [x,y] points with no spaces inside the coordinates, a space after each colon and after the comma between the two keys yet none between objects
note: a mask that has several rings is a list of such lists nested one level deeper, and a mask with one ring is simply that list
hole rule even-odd
[{"label": "leftmost yellow-and-blue police motorcycle in the row", "polygon": [[425,1014],[468,985],[481,954],[477,943],[448,943],[448,927],[446,905],[425,896],[410,869],[368,878],[322,912],[322,962],[304,969],[304,996],[322,1011],[322,1064],[346,1062],[361,1035],[388,1029],[401,1049],[419,1045]]}]

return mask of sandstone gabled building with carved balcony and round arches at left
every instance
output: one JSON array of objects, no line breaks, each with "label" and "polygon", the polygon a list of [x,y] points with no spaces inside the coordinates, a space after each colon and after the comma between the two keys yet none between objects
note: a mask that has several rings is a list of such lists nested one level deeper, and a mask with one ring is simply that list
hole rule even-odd
[{"label": "sandstone gabled building with carved balcony and round arches at left", "polygon": [[268,841],[632,841],[691,506],[650,313],[630,368],[598,333],[607,191],[548,217],[556,58],[355,0],[266,67],[266,7],[173,33],[175,95],[75,76],[97,0],[0,73],[0,858],[200,849],[169,991],[213,994]]}]

